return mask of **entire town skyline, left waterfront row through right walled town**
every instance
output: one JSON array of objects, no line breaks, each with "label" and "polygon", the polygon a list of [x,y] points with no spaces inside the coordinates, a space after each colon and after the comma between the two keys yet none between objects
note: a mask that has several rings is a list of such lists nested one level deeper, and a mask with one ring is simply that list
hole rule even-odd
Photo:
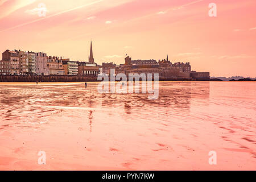
[{"label": "entire town skyline, left waterfront row through right walled town", "polygon": [[2,53],[0,61],[0,75],[80,75],[97,76],[100,72],[107,75],[110,70],[118,73],[158,73],[163,79],[198,79],[208,80],[209,72],[195,72],[191,70],[190,63],[171,63],[164,60],[131,60],[125,57],[124,64],[94,63],[92,42],[88,61],[72,61],[63,57],[47,56],[44,52],[26,52],[20,50],[6,50]]}]

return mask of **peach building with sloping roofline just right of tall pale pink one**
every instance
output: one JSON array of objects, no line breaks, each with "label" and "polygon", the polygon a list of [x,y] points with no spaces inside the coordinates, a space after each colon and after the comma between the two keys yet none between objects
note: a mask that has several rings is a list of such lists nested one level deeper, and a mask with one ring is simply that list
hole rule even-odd
[{"label": "peach building with sloping roofline just right of tall pale pink one", "polygon": [[49,69],[49,75],[65,75],[62,60],[59,57],[48,56],[47,68]]}]

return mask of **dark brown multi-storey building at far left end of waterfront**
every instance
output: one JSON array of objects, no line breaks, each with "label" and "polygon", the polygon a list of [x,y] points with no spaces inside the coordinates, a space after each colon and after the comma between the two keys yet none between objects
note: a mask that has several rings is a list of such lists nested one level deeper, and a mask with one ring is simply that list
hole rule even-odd
[{"label": "dark brown multi-storey building at far left end of waterfront", "polygon": [[[19,54],[15,51],[6,50],[2,53],[2,69],[7,75],[19,75]],[[10,69],[9,69],[9,68]]]}]

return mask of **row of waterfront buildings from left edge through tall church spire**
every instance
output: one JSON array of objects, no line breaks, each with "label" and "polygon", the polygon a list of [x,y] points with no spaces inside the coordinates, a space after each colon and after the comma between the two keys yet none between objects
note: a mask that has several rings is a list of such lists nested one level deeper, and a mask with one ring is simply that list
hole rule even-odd
[{"label": "row of waterfront buildings from left edge through tall church spire", "polygon": [[94,63],[92,42],[88,62],[47,56],[44,52],[6,50],[0,61],[0,75],[86,75],[97,76],[99,66]]}]

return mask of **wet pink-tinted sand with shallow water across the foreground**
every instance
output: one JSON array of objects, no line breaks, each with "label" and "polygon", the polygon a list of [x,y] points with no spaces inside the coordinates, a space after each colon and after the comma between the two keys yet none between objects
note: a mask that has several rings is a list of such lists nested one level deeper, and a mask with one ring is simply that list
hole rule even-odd
[{"label": "wet pink-tinted sand with shallow water across the foreground", "polygon": [[254,82],[159,82],[158,100],[97,84],[0,83],[0,169],[256,169]]}]

